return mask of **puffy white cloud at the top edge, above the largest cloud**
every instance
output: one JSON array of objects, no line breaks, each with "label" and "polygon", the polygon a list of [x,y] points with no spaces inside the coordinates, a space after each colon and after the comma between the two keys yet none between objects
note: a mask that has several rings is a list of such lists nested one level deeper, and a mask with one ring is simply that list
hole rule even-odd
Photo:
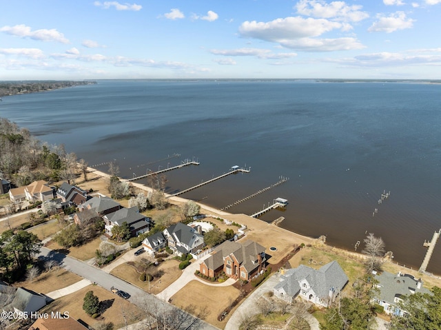
[{"label": "puffy white cloud at the top edge, above the largest cloud", "polygon": [[361,11],[362,6],[349,6],[345,1],[326,3],[326,1],[323,0],[300,0],[295,8],[299,14],[305,16],[322,19],[337,19],[338,21],[358,22],[369,17],[367,12]]}]

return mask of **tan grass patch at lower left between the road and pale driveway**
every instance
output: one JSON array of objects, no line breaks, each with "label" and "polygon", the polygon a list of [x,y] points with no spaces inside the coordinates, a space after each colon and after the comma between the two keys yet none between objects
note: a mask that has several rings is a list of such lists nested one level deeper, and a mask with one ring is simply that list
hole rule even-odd
[{"label": "tan grass patch at lower left between the road and pale driveway", "polygon": [[63,287],[68,287],[76,282],[82,280],[78,275],[71,273],[62,268],[52,269],[50,273],[45,271],[38,278],[32,282],[17,282],[14,285],[16,287],[25,287],[38,293],[49,293]]}]

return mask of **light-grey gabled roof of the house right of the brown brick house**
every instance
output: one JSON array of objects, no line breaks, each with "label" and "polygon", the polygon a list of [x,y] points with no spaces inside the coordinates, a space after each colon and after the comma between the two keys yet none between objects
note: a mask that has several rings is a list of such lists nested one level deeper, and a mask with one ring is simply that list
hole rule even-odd
[{"label": "light-grey gabled roof of the house right of the brown brick house", "polygon": [[307,280],[317,296],[327,298],[330,289],[341,291],[345,287],[348,278],[336,260],[329,262],[320,269],[300,265],[297,268],[288,269],[285,275],[282,276],[281,282],[274,289],[283,288],[287,294],[295,296],[300,290],[298,283],[302,280]]}]

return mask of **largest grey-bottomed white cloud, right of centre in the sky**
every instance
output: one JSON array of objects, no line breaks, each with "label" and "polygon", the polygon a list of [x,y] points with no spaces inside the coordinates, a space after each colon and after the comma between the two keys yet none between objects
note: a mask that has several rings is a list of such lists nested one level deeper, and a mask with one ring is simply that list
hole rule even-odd
[{"label": "largest grey-bottomed white cloud, right of centre in the sky", "polygon": [[302,17],[287,17],[270,22],[245,21],[239,27],[243,37],[279,43],[285,48],[312,52],[353,50],[365,48],[355,38],[315,39],[325,32],[350,28],[347,23]]}]

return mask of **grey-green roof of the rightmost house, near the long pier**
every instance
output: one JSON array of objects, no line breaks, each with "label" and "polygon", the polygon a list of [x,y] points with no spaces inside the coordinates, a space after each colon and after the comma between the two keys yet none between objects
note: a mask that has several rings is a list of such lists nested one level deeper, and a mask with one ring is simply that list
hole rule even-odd
[{"label": "grey-green roof of the rightmost house, near the long pier", "polygon": [[378,287],[380,289],[380,300],[395,303],[395,297],[409,295],[411,293],[431,293],[428,289],[422,287],[420,282],[420,289],[418,289],[418,280],[409,274],[391,274],[383,271],[381,274],[375,276],[378,280]]}]

